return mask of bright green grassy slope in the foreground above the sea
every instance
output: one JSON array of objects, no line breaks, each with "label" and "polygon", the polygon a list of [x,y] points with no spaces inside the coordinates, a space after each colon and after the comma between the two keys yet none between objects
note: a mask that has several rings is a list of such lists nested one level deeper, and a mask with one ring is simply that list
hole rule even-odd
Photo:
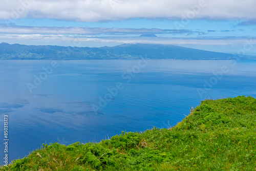
[{"label": "bright green grassy slope in the foreground above the sea", "polygon": [[171,129],[44,144],[2,170],[255,170],[256,99],[205,100]]}]

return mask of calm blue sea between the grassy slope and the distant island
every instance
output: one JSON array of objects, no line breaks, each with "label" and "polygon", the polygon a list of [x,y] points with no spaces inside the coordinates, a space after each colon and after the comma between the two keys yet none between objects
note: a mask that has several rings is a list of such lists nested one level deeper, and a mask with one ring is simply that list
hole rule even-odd
[{"label": "calm blue sea between the grassy slope and the distant island", "polygon": [[254,60],[0,60],[0,157],[6,114],[11,161],[42,143],[174,126],[205,98],[256,97],[255,71]]}]

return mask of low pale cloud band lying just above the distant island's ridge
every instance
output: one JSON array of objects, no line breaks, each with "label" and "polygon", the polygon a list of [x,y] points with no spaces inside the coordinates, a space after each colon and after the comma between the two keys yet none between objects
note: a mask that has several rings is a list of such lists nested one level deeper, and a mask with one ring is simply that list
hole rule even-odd
[{"label": "low pale cloud band lying just above the distant island's ridge", "polygon": [[165,45],[219,45],[219,46],[243,46],[248,44],[256,45],[256,37],[95,37],[95,36],[72,36],[72,35],[51,35],[51,34],[0,34],[2,40],[29,40],[33,41],[54,41],[55,45],[62,45],[67,42],[80,42],[81,47],[86,42],[98,42],[108,45],[114,44],[165,44]]}]

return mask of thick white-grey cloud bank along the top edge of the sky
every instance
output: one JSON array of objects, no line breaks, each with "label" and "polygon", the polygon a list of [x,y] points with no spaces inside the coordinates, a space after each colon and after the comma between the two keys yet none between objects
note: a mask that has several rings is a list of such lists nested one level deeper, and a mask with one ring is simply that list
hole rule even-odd
[{"label": "thick white-grey cloud bank along the top edge of the sky", "polygon": [[4,0],[0,19],[53,18],[78,22],[130,18],[256,19],[254,0]]}]

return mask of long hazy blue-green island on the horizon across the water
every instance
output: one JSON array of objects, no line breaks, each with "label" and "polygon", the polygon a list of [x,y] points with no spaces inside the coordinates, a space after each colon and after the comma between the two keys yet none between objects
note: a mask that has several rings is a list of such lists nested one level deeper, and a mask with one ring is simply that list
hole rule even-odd
[{"label": "long hazy blue-green island on the horizon across the water", "polygon": [[[114,47],[62,47],[0,44],[0,59],[84,60],[84,59],[178,59],[226,60],[236,55],[184,48],[173,45],[123,44]],[[245,55],[241,59],[256,59]]]}]

